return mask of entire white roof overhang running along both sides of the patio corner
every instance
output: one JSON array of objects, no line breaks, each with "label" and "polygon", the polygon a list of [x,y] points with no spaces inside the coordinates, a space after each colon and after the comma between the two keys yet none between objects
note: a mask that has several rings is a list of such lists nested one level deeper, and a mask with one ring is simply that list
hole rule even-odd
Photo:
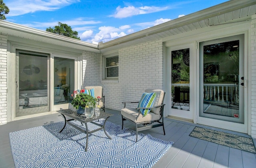
[{"label": "entire white roof overhang running along both sides of the patio corner", "polygon": [[248,16],[254,14],[256,14],[255,0],[230,0],[109,42],[99,43],[98,45],[4,20],[0,20],[0,32],[14,37],[36,40],[80,51],[100,53],[111,52],[152,40],[164,39],[176,34],[223,24],[241,18],[248,18]]}]

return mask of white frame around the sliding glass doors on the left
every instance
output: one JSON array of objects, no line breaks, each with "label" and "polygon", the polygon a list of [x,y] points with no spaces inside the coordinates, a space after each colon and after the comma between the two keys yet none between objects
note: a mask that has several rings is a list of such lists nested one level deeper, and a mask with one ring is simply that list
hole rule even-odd
[{"label": "white frame around the sliding glass doors on the left", "polygon": [[[32,114],[32,115],[29,115],[29,116],[21,116],[21,117],[16,117],[15,116],[15,113],[16,113],[16,84],[15,84],[15,76],[16,76],[16,50],[27,50],[27,51],[31,51],[31,52],[42,52],[42,53],[46,53],[46,54],[50,54],[50,70],[49,70],[49,73],[50,73],[50,86],[53,86],[53,72],[50,72],[51,70],[54,70],[54,57],[53,56],[62,56],[62,57],[68,57],[68,58],[74,58],[75,59],[75,71],[76,71],[76,81],[75,81],[75,89],[78,89],[80,88],[81,86],[81,81],[82,81],[82,70],[81,70],[81,67],[82,67],[82,59],[81,59],[81,53],[77,52],[77,51],[66,51],[66,53],[68,54],[64,54],[64,53],[61,53],[60,50],[58,50],[58,52],[54,52],[52,51],[52,49],[48,49],[48,48],[44,48],[44,49],[36,49],[36,48],[33,48],[33,47],[30,47],[30,46],[33,46],[33,44],[31,44],[30,46],[22,46],[20,44],[13,44],[11,42],[8,43],[10,48],[10,52],[8,53],[8,55],[10,56],[10,64],[11,64],[11,67],[10,68],[10,76],[8,76],[8,80],[10,79],[10,82],[11,82],[11,85],[8,86],[8,90],[9,90],[9,93],[8,95],[11,96],[10,98],[10,107],[8,107],[8,109],[10,109],[10,112],[8,112],[8,116],[9,119],[8,119],[8,122],[10,121],[15,121],[15,120],[21,120],[21,119],[25,119],[25,118],[32,118],[32,117],[36,117],[36,116],[44,116],[44,115],[48,115],[48,114],[52,114],[53,112],[55,112],[56,110],[59,110],[60,108],[58,106],[54,107],[54,103],[53,103],[53,100],[52,100],[52,96],[54,95],[54,90],[51,89],[50,90],[50,110],[49,112],[44,112],[44,113],[38,113],[38,114]],[[64,50],[62,50],[64,51]],[[68,108],[69,107],[69,104],[66,104],[64,107],[62,106],[62,108]]]}]

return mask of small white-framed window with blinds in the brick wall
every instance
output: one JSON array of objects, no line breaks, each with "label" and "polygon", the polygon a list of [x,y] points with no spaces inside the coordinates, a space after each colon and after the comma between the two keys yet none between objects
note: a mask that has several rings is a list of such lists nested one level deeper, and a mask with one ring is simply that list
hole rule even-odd
[{"label": "small white-framed window with blinds in the brick wall", "polygon": [[118,55],[104,57],[104,79],[118,79]]}]

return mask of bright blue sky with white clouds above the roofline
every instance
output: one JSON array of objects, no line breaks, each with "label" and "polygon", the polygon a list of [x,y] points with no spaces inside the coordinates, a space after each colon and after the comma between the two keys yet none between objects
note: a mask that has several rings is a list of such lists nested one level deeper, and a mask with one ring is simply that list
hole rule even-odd
[{"label": "bright blue sky with white clouds above the roofline", "polygon": [[4,0],[6,21],[46,30],[68,24],[86,42],[107,42],[228,0]]}]

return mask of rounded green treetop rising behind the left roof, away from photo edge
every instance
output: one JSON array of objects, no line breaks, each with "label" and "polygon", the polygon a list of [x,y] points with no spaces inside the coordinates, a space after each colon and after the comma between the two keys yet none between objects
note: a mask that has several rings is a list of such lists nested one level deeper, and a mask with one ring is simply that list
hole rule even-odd
[{"label": "rounded green treetop rising behind the left roof, away from photo edge", "polygon": [[46,32],[51,32],[51,33],[59,34],[62,36],[81,40],[80,37],[78,37],[77,31],[73,31],[70,26],[68,26],[67,24],[63,24],[61,22],[58,22],[58,26],[54,26],[54,28],[51,28],[51,27],[46,28]]}]

